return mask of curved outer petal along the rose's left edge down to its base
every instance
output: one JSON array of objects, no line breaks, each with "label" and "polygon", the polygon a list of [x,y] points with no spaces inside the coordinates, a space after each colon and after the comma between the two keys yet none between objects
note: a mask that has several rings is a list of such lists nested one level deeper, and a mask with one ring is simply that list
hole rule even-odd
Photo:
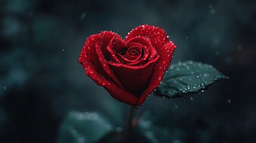
[{"label": "curved outer petal along the rose's left edge down to its base", "polygon": [[94,48],[99,40],[100,34],[92,35],[87,38],[79,57],[79,63],[82,64],[87,75],[94,80],[97,85],[103,86],[113,98],[130,105],[135,105],[137,97],[125,91],[123,88],[116,85],[116,83],[113,83],[110,77],[113,78],[115,76],[108,76],[106,72],[104,72],[102,68],[104,66],[102,66],[97,58],[100,54],[97,54]]}]

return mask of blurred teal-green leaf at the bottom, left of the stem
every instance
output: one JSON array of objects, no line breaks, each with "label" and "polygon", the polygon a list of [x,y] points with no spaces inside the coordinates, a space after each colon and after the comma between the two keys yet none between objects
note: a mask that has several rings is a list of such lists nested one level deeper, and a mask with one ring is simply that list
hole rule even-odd
[{"label": "blurred teal-green leaf at the bottom, left of the stem", "polygon": [[71,111],[60,127],[58,143],[96,142],[111,129],[98,113]]}]

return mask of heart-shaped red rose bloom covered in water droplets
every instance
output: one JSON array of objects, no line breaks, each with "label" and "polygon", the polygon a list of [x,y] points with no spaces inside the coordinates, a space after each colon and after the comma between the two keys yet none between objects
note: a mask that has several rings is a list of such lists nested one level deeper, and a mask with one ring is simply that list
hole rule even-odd
[{"label": "heart-shaped red rose bloom covered in water droplets", "polygon": [[109,31],[91,35],[79,63],[113,98],[141,105],[160,84],[175,48],[163,29],[142,25],[132,29],[125,40]]}]

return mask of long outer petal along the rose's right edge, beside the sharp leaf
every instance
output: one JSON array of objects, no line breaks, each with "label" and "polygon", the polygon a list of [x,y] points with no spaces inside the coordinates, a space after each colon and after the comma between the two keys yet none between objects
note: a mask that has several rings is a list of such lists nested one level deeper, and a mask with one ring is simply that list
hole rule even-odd
[{"label": "long outer petal along the rose's right edge, beside the sharp leaf", "polygon": [[156,65],[152,74],[152,79],[149,82],[150,84],[147,87],[146,91],[138,98],[136,105],[143,104],[147,96],[149,96],[149,94],[153,92],[153,90],[160,84],[165,74],[165,71],[168,69],[169,64],[171,63],[172,54],[175,48],[176,46],[171,41],[165,43],[164,46],[159,48],[158,53],[160,56],[158,61],[156,61]]}]

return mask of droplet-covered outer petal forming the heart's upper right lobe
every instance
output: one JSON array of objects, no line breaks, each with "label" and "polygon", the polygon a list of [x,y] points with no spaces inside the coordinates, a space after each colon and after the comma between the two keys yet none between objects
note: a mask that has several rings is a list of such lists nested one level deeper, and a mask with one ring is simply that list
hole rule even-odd
[{"label": "droplet-covered outer petal forming the heart's upper right lobe", "polygon": [[135,38],[136,36],[149,38],[156,51],[169,41],[163,29],[149,25],[135,27],[129,32],[125,40],[129,41],[129,39]]}]

